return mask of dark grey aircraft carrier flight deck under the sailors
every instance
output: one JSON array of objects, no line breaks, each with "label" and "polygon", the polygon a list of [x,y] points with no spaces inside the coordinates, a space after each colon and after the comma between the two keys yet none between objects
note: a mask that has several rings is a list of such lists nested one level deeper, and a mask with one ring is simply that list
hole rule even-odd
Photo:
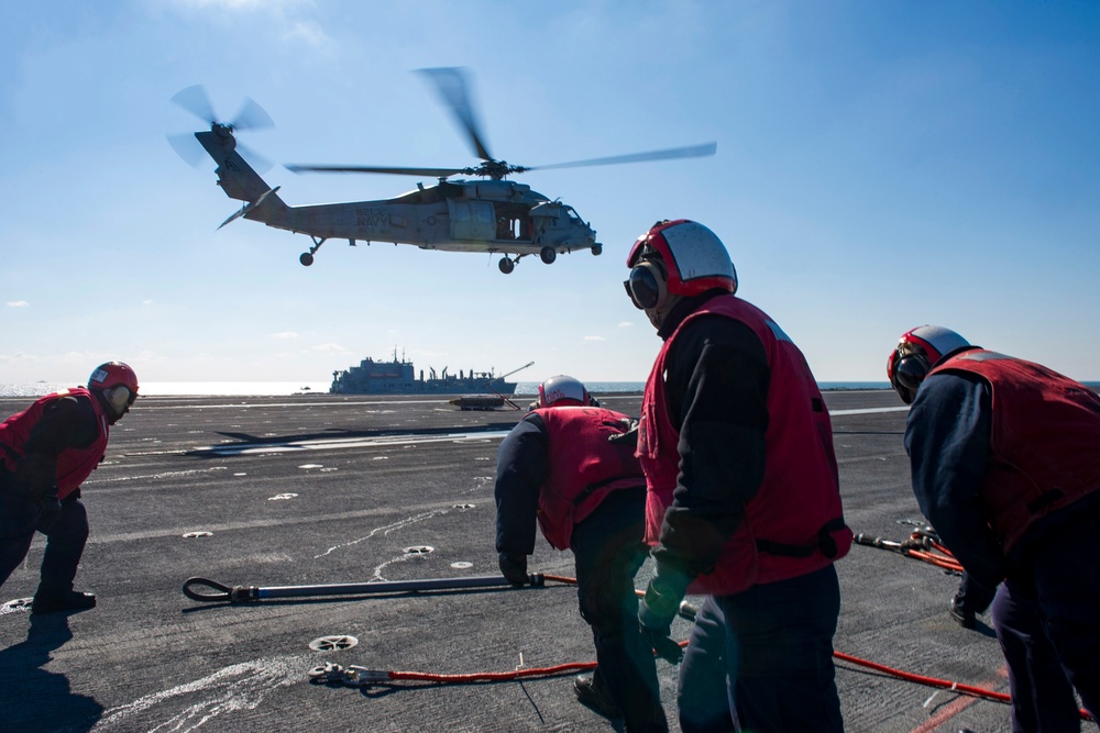
[{"label": "dark grey aircraft carrier flight deck under the sailors", "polygon": [[[597,397],[628,414],[640,407],[640,395]],[[849,526],[909,537],[923,519],[900,400],[825,399]],[[0,409],[29,403],[2,398]],[[182,592],[196,576],[262,588],[497,576],[496,452],[521,417],[460,411],[446,396],[143,397],[82,488],[91,535],[77,588],[98,608],[32,614],[19,602],[37,585],[41,535],[0,589],[0,730],[622,731],[576,702],[575,671],[450,677],[593,662],[568,582],[248,602]],[[572,577],[572,555],[540,536],[529,569]],[[948,617],[957,576],[866,545],[837,569],[837,653],[1008,691],[988,617],[976,631]],[[673,636],[686,638],[689,623],[678,619]],[[425,678],[311,678],[327,663]],[[675,669],[657,664],[676,731]],[[1002,702],[858,663],[837,662],[837,687],[848,731],[1009,730]]]}]

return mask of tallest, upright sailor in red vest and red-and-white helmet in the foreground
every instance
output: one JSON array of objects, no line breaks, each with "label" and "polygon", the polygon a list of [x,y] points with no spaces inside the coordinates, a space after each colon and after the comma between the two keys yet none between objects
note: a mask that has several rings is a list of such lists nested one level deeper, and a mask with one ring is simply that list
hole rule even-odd
[{"label": "tallest, upright sailor in red vest and red-and-white helmet in the foreground", "polygon": [[851,531],[810,367],[734,295],[729,253],[706,226],[658,222],[627,266],[627,295],[664,342],[637,447],[656,560],[639,621],[654,649],[684,593],[707,596],[680,667],[681,729],[840,731],[833,564]]}]

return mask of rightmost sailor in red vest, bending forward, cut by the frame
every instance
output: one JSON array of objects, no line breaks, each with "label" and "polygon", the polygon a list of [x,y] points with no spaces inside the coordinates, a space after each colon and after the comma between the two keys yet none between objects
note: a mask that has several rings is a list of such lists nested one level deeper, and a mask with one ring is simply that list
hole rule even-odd
[{"label": "rightmost sailor in red vest, bending forward, cut by the frame", "polygon": [[1041,665],[1056,659],[1100,713],[1100,397],[936,325],[902,335],[887,375],[912,404],[905,449],[921,511],[967,584],[997,589],[1012,730],[1077,731],[1071,691]]}]

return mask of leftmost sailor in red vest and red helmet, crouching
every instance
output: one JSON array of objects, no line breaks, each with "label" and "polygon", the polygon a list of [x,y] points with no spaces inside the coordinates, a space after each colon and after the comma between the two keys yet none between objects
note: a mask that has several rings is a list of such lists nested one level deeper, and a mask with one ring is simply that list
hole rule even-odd
[{"label": "leftmost sailor in red vest and red helmet, crouching", "polygon": [[133,369],[110,362],[91,373],[87,389],[47,395],[0,423],[0,586],[26,557],[35,531],[46,535],[33,613],[96,606],[92,593],[73,589],[88,540],[80,485],[135,399]]}]

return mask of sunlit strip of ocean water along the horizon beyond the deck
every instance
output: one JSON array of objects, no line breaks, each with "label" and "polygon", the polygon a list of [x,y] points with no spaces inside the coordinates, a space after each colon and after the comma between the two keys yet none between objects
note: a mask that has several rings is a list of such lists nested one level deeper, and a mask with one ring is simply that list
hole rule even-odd
[{"label": "sunlit strip of ocean water along the horizon beyond the deck", "polygon": [[[141,385],[143,397],[278,397],[282,395],[327,395],[329,381],[145,381]],[[24,384],[0,382],[0,397],[41,397],[72,387],[62,382],[35,381]],[[640,392],[641,381],[592,381],[587,385],[593,395],[610,392]],[[884,381],[823,381],[823,390],[831,389],[889,389]],[[539,382],[516,384],[516,395],[538,395]]]}]

